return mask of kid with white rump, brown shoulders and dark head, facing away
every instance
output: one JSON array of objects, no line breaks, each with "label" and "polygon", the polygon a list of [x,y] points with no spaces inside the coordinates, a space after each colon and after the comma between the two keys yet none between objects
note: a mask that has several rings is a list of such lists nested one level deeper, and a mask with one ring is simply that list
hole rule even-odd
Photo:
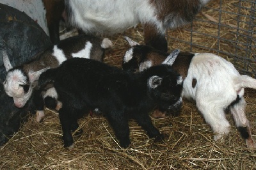
[{"label": "kid with white rump, brown shoulders and dark head, facing away", "polygon": [[[125,37],[132,46],[124,56],[124,70],[140,70],[159,65],[168,53],[140,45]],[[225,109],[230,109],[241,136],[248,148],[256,148],[252,139],[249,121],[245,115],[244,88],[256,89],[256,80],[240,75],[232,63],[209,53],[180,52],[173,68],[184,77],[182,97],[193,98],[196,107],[211,126],[214,140],[221,139],[230,131],[225,118]]]}]

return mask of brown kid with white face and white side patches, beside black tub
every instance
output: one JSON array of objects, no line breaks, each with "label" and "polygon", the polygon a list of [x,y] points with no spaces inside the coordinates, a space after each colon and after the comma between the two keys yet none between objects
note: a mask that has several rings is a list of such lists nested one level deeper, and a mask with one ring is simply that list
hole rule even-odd
[{"label": "brown kid with white face and white side patches, beside black tub", "polygon": [[[4,90],[13,98],[16,107],[24,107],[37,88],[37,80],[42,72],[49,68],[58,67],[68,58],[90,58],[102,61],[104,49],[111,47],[112,42],[108,38],[96,38],[94,36],[79,35],[62,40],[58,45],[35,56],[35,59],[24,65],[13,66],[6,52],[3,52],[3,62],[6,68],[6,79],[3,83]],[[54,88],[49,88],[45,97],[58,98]],[[60,109],[57,105],[56,109]],[[44,106],[36,110],[36,121],[44,117]]]}]

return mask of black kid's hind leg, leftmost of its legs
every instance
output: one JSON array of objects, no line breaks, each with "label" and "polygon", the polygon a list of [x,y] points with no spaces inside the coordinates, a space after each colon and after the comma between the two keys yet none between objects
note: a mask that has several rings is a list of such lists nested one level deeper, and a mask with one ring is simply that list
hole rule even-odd
[{"label": "black kid's hind leg, leftmost of its legs", "polygon": [[64,148],[74,148],[74,141],[71,134],[72,123],[72,112],[69,109],[62,107],[59,111],[60,123],[63,132]]}]

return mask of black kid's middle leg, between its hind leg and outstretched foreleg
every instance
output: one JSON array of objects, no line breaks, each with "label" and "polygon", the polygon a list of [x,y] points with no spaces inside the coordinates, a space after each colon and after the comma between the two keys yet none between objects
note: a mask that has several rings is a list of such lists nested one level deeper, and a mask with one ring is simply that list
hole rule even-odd
[{"label": "black kid's middle leg, between its hind leg and outstretched foreleg", "polygon": [[129,137],[128,119],[124,116],[124,112],[111,112],[106,114],[109,124],[113,128],[116,138],[120,141],[122,148],[127,148],[131,144]]}]

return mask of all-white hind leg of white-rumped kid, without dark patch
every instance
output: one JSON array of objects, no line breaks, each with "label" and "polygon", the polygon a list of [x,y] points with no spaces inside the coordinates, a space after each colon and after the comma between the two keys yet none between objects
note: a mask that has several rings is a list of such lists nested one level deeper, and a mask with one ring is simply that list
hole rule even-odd
[{"label": "all-white hind leg of white-rumped kid, without dark patch", "polygon": [[205,101],[196,101],[198,110],[203,114],[206,123],[208,123],[212,131],[215,133],[214,141],[218,141],[224,135],[230,132],[230,124],[228,123],[225,112],[222,108],[212,106]]}]

